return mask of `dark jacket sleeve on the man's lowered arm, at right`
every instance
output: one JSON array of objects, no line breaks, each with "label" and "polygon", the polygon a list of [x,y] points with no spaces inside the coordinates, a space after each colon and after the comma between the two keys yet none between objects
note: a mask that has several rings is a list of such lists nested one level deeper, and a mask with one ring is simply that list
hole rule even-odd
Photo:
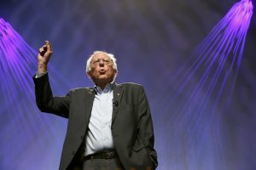
[{"label": "dark jacket sleeve on the man's lowered arm, at right", "polygon": [[143,143],[155,168],[158,161],[157,153],[154,150],[154,128],[148,99],[143,87],[139,89],[137,102],[137,138]]}]

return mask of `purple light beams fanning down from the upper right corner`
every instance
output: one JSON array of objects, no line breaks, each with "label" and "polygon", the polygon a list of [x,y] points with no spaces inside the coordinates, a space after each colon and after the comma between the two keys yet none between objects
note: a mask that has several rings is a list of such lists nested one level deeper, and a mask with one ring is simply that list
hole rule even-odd
[{"label": "purple light beams fanning down from the upper right corner", "polygon": [[203,110],[210,100],[216,106],[214,108],[220,101],[226,103],[229,100],[225,96],[232,94],[252,15],[252,1],[241,0],[195,48],[175,79],[178,91],[183,93],[185,90],[184,111],[193,110],[194,103],[201,105],[198,109]]}]

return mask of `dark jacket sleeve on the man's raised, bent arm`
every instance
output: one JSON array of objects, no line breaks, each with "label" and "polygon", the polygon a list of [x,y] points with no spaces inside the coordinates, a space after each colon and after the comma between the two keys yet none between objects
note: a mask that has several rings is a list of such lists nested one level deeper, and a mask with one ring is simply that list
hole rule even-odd
[{"label": "dark jacket sleeve on the man's raised, bent arm", "polygon": [[42,77],[33,77],[38,109],[43,112],[53,113],[57,116],[68,117],[70,92],[66,96],[54,97],[46,73]]}]

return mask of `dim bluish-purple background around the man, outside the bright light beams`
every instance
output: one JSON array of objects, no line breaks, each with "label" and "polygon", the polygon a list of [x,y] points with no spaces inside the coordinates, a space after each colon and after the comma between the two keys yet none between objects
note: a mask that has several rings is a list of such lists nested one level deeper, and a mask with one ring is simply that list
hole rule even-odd
[{"label": "dim bluish-purple background around the man, outside the bright light beams", "polygon": [[[210,120],[205,112],[205,120],[190,122],[201,124],[204,130],[200,135],[189,129],[184,134],[186,125],[173,122],[173,115],[178,113],[171,111],[172,104],[164,100],[172,98],[171,84],[175,83],[172,76],[177,69],[236,2],[1,0],[0,17],[32,48],[38,49],[45,40],[52,43],[54,54],[50,65],[67,81],[53,84],[54,94],[92,86],[84,73],[85,60],[95,50],[113,53],[119,68],[116,82],[137,82],[146,90],[154,120],[158,169],[253,170],[256,169],[255,15],[247,32],[230,107],[218,113],[217,121],[208,124]],[[32,72],[36,71],[36,65],[32,66]],[[51,70],[49,76],[51,81],[55,79]],[[26,113],[16,118],[18,113],[6,116],[10,113],[1,110],[0,168],[57,169],[67,120],[29,109]],[[28,137],[22,126],[15,130],[20,135],[14,133],[19,121],[26,122],[29,116],[35,115],[38,117],[35,122],[24,126],[36,127],[36,133]],[[19,121],[13,123],[15,118]]]}]

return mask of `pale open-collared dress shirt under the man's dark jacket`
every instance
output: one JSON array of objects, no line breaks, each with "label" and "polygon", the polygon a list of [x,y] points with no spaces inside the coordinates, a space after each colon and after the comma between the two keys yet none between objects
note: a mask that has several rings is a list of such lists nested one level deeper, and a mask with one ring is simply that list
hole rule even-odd
[{"label": "pale open-collared dress shirt under the man's dark jacket", "polygon": [[96,87],[88,131],[85,136],[85,156],[101,150],[113,150],[111,133],[113,112],[113,85],[109,83],[103,90]]}]

